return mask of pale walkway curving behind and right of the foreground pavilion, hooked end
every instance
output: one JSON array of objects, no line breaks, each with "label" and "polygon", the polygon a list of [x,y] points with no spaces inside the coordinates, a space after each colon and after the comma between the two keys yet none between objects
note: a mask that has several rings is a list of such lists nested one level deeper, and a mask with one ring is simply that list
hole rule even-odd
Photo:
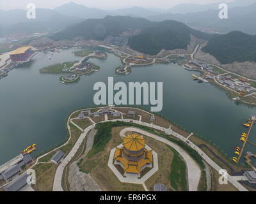
[{"label": "pale walkway curving behind and right of the foreground pavilion, hooked end", "polygon": [[148,133],[147,131],[139,128],[124,128],[122,129],[122,131],[120,131],[120,136],[124,137],[125,136],[124,133],[127,131],[137,132],[137,133],[141,133],[142,135],[149,136],[150,138],[154,138],[154,140],[158,140],[159,142],[166,143],[166,145],[169,145],[170,147],[173,147],[173,149],[177,150],[180,156],[183,157],[186,163],[186,166],[188,168],[188,189],[189,191],[197,191],[197,187],[201,177],[201,170],[198,164],[194,161],[194,159],[192,159],[191,156],[189,156],[189,154],[186,151],[184,151],[181,147],[179,147],[175,143],[170,142],[169,140],[166,140],[161,136]]}]

